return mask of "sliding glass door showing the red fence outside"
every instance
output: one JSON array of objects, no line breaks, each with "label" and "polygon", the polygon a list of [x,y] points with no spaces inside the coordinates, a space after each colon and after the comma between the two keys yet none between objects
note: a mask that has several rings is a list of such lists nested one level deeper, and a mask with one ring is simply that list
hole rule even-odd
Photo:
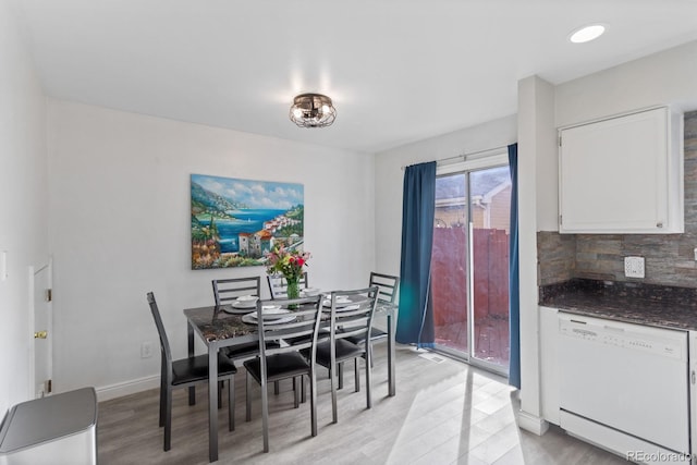
[{"label": "sliding glass door showing the red fence outside", "polygon": [[510,205],[508,166],[436,180],[436,348],[501,374],[509,368]]}]

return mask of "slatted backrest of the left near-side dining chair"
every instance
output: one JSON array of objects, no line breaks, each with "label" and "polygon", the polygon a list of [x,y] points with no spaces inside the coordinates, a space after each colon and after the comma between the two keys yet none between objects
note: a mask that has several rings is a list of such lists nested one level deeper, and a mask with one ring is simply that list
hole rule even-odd
[{"label": "slatted backrest of the left near-side dining chair", "polygon": [[[322,316],[321,302],[321,295],[293,299],[257,301],[259,354],[261,356],[261,375],[265,379],[266,357],[269,355],[309,348],[311,360],[315,363],[317,334]],[[274,307],[280,305],[281,308],[297,306],[297,309],[283,314],[281,319],[269,319],[269,316],[264,314],[264,307],[268,305]],[[278,317],[278,315],[273,315],[273,317]]]}]

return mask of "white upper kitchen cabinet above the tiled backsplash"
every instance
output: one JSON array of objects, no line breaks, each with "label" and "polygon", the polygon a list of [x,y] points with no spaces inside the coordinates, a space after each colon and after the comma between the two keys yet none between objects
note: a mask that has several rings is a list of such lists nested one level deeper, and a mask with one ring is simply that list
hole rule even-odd
[{"label": "white upper kitchen cabinet above the tiled backsplash", "polygon": [[661,107],[563,127],[559,144],[560,232],[683,232],[682,115]]}]

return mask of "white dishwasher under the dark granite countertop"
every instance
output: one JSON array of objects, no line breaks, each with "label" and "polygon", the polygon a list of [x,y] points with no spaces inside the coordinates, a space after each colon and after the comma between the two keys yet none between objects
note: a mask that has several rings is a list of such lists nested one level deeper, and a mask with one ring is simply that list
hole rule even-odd
[{"label": "white dishwasher under the dark granite countertop", "polygon": [[560,426],[637,463],[690,463],[687,331],[560,313]]}]

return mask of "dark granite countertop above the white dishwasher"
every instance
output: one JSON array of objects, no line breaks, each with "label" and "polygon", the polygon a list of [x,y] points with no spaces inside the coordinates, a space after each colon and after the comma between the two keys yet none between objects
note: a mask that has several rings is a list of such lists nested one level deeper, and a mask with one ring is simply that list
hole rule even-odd
[{"label": "dark granite countertop above the white dishwasher", "polygon": [[540,287],[539,304],[661,328],[697,330],[697,289],[573,279]]}]

